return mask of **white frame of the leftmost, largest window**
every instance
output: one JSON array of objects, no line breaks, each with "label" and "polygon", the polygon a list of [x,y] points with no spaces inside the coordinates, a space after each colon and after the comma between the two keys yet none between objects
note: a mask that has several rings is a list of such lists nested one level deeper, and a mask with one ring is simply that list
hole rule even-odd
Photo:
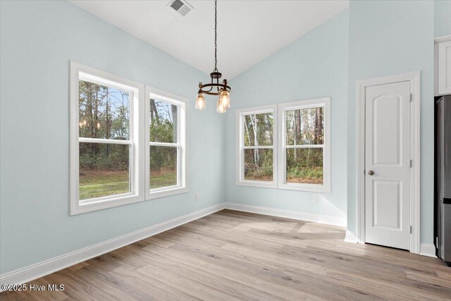
[{"label": "white frame of the leftmost, largest window", "polygon": [[[115,87],[130,92],[130,140],[109,140],[79,137],[79,80]],[[124,204],[144,201],[143,143],[144,85],[120,78],[80,63],[70,62],[70,215],[82,214]],[[79,143],[94,142],[130,146],[130,192],[121,195],[79,199]]]}]

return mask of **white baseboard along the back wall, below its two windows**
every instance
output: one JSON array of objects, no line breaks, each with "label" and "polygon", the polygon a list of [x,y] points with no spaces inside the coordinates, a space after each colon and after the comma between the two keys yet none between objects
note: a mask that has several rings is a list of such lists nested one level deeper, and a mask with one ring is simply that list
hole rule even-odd
[{"label": "white baseboard along the back wall, below its two windows", "polygon": [[346,226],[346,219],[335,216],[323,216],[319,214],[309,214],[299,211],[290,211],[283,209],[275,209],[269,207],[259,207],[238,203],[225,203],[225,209],[232,209],[237,211],[245,211],[257,214],[265,214],[271,216],[285,217],[287,219],[298,219],[301,221],[313,221],[315,223],[326,223],[334,226]]}]

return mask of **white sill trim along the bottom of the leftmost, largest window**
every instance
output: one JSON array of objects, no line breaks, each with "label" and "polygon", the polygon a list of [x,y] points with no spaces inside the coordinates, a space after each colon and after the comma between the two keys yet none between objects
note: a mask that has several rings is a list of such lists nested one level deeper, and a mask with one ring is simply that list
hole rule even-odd
[{"label": "white sill trim along the bottom of the leftmost, largest window", "polygon": [[70,215],[82,214],[91,211],[97,211],[101,209],[108,209],[126,204],[133,204],[142,202],[142,196],[140,195],[125,195],[121,197],[111,197],[109,199],[99,199],[97,201],[81,203],[75,202],[74,206],[70,208]]}]

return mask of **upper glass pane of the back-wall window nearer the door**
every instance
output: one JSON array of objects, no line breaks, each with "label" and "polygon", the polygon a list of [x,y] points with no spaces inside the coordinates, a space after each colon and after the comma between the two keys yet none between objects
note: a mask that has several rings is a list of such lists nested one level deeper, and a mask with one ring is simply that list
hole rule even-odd
[{"label": "upper glass pane of the back-wall window nearer the door", "polygon": [[286,111],[287,145],[324,143],[324,108]]}]

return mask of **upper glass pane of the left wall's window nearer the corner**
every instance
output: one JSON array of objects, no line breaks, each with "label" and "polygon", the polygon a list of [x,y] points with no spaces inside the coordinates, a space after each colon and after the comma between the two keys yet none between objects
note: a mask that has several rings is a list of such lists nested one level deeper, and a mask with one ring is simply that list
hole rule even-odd
[{"label": "upper glass pane of the left wall's window nearer the corner", "polygon": [[177,143],[178,106],[158,99],[150,99],[151,142]]}]

